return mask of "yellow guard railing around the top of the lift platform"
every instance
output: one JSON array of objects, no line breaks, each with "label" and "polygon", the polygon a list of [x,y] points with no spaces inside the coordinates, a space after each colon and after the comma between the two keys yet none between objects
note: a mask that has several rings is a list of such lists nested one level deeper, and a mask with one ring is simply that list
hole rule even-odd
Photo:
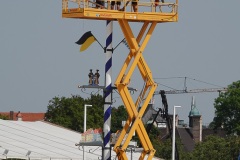
[{"label": "yellow guard railing around the top of the lift platform", "polygon": [[[64,12],[69,10],[80,11],[82,9],[107,9],[107,4],[110,4],[111,1],[103,1],[104,6],[98,5],[96,0],[62,0],[62,9]],[[132,7],[132,0],[115,0],[121,2],[120,10],[124,12],[134,12]],[[110,2],[110,3],[108,3]],[[137,3],[137,12],[154,12],[154,13],[177,13],[178,11],[178,0],[138,0]],[[110,7],[109,7],[110,8]],[[117,11],[117,10],[115,10]]]}]

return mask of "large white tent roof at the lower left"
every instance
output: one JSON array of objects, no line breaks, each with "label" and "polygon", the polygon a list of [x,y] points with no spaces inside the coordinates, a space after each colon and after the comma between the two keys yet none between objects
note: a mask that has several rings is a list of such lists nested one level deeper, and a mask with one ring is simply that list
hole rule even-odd
[{"label": "large white tent roof at the lower left", "polygon": [[[0,159],[83,159],[82,147],[75,146],[81,134],[43,121],[8,121],[0,119]],[[112,151],[112,159],[116,153]],[[128,159],[140,153],[127,152]],[[86,160],[99,160],[102,147],[85,146]],[[147,158],[147,157],[146,157]],[[153,158],[157,160],[158,158]]]}]

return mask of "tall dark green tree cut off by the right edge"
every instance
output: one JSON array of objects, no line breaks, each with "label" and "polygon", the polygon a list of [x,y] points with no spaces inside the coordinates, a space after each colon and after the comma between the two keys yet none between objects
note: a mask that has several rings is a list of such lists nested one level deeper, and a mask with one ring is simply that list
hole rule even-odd
[{"label": "tall dark green tree cut off by the right edge", "polygon": [[222,127],[227,134],[240,135],[240,81],[228,86],[225,93],[215,99],[214,126]]}]

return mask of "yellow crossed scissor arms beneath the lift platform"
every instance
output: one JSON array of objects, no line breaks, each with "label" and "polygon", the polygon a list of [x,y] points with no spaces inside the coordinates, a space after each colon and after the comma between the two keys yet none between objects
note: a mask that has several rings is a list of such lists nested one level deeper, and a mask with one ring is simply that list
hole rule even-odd
[{"label": "yellow crossed scissor arms beneath the lift platform", "polygon": [[[157,84],[154,83],[151,70],[144,60],[143,51],[153,33],[157,22],[145,21],[137,38],[134,37],[127,20],[118,19],[118,22],[130,47],[130,53],[123,64],[123,67],[116,79],[115,85],[126,107],[128,119],[114,146],[114,151],[117,153],[119,160],[127,160],[125,151],[130,143],[130,140],[132,139],[134,132],[136,131],[141,142],[141,146],[143,147],[143,151],[139,157],[139,160],[143,160],[147,154],[148,160],[150,160],[155,154],[155,149],[152,146],[152,143],[148,137],[148,133],[146,132],[142,122],[142,116],[154,94],[154,91],[157,88]],[[139,44],[140,42],[142,43]],[[139,69],[142,76],[144,88],[134,103],[128,90],[128,84],[136,67]],[[141,106],[140,103],[142,104]],[[124,137],[125,141],[123,142]]]}]

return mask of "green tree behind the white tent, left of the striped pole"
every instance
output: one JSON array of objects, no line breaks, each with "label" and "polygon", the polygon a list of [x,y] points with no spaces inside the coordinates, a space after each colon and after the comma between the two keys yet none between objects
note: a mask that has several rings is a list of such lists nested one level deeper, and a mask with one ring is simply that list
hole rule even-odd
[{"label": "green tree behind the white tent, left of the striped pole", "polygon": [[72,95],[70,98],[54,97],[49,101],[45,120],[83,132],[85,104],[93,105],[87,109],[87,128],[102,128],[103,98],[101,95],[92,95],[90,99],[83,99],[78,95]]}]

